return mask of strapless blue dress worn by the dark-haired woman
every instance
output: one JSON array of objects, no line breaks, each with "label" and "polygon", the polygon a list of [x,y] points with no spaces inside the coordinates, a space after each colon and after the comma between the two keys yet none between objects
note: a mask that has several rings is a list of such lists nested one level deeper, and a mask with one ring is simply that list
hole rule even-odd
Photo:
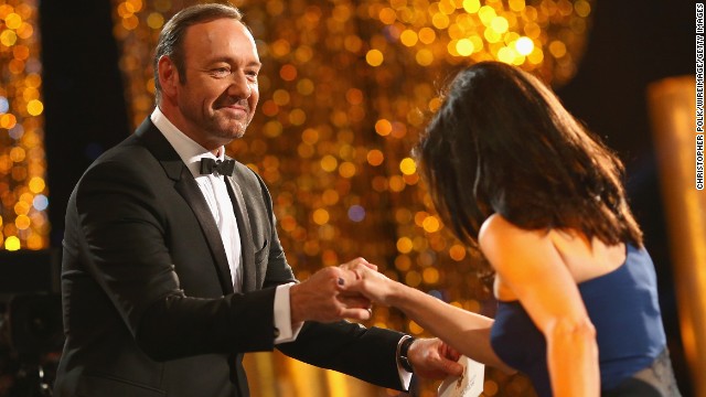
[{"label": "strapless blue dress worn by the dark-haired woman", "polygon": [[[603,391],[650,366],[666,346],[652,259],[644,248],[627,245],[627,251],[619,268],[578,285],[596,328]],[[518,301],[499,302],[491,345],[539,396],[552,396],[546,341]]]}]

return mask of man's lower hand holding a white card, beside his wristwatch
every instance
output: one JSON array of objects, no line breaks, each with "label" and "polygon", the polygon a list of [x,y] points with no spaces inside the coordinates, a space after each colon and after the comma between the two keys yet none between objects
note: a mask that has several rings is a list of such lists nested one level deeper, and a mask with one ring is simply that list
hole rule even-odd
[{"label": "man's lower hand holding a white card, beside his wristwatch", "polygon": [[461,354],[438,337],[415,340],[407,356],[415,374],[424,378],[443,379],[463,372],[463,366],[457,363]]}]

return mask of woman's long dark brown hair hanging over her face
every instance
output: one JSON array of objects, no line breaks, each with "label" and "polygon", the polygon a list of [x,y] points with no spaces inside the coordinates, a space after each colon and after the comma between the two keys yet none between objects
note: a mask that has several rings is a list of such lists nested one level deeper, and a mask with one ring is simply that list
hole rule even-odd
[{"label": "woman's long dark brown hair hanging over her face", "polygon": [[642,246],[618,157],[520,68],[482,62],[459,73],[415,154],[437,211],[471,247],[493,213],[524,229]]}]

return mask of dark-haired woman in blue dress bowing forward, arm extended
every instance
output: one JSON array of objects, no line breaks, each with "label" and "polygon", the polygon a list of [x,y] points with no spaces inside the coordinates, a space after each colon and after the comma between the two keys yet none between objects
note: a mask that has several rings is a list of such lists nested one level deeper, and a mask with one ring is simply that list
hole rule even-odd
[{"label": "dark-haired woman in blue dress bowing forward, arm extended", "polygon": [[618,157],[536,77],[462,71],[415,150],[435,205],[495,272],[495,319],[353,267],[350,289],[397,307],[539,396],[678,396],[654,266]]}]

